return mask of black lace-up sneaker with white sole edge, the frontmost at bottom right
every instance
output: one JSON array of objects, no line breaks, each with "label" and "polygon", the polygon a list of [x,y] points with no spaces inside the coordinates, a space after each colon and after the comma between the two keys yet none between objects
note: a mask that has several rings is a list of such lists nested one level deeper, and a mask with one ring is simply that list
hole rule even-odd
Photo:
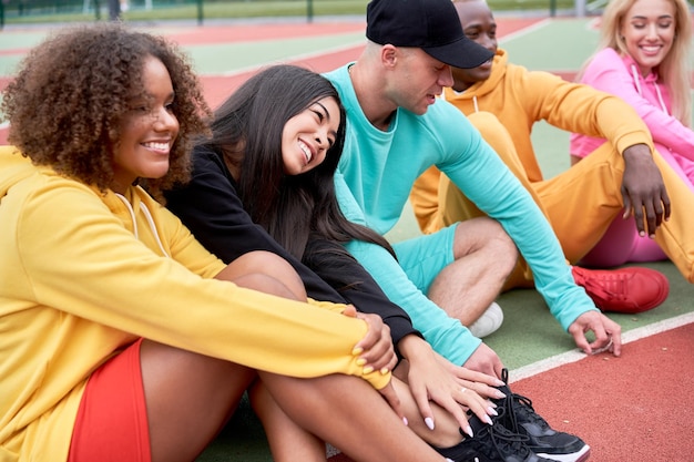
[{"label": "black lace-up sneaker with white sole edge, the frontmost at bottom right", "polygon": [[509,371],[503,369],[501,380],[507,384],[499,387],[506,398],[494,400],[503,412],[492,418],[510,432],[528,438],[527,445],[535,454],[560,462],[584,462],[590,458],[591,448],[579,437],[553,430],[544,419],[532,409],[532,401],[513,393],[509,388]]}]

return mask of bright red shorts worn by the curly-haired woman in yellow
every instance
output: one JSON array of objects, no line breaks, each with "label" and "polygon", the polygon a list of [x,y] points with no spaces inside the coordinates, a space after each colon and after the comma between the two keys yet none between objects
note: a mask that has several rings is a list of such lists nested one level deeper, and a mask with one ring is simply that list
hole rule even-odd
[{"label": "bright red shorts worn by the curly-haired woman in yellow", "polygon": [[89,378],[68,462],[151,461],[141,343],[135,341]]}]

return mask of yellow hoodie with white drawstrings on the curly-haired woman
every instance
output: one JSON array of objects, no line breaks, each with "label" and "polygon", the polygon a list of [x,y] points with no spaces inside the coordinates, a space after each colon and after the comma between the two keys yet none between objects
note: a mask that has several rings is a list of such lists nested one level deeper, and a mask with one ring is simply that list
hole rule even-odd
[{"label": "yellow hoodie with white drawstrings on the curly-haired woman", "polygon": [[142,188],[105,194],[0,148],[0,461],[64,461],[90,373],[139,337],[294,377],[347,373],[343,305],[212,279],[224,264]]}]

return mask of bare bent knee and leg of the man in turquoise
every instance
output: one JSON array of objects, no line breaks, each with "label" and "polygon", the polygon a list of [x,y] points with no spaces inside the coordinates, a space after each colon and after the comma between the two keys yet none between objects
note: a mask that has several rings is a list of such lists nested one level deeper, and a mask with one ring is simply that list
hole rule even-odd
[{"label": "bare bent knee and leg of the man in turquoise", "polygon": [[456,260],[436,278],[428,297],[465,326],[499,296],[518,260],[518,249],[498,222],[478,217],[456,227]]}]

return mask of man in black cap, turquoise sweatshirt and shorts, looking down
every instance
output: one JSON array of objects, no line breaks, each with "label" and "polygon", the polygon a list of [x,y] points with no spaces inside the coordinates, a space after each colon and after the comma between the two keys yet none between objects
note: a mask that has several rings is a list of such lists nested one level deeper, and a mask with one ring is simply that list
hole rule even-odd
[{"label": "man in black cap, turquoise sweatshirt and shorts, looking down", "polygon": [[[367,38],[355,63],[326,74],[347,110],[345,151],[336,174],[347,217],[387,233],[400,217],[415,179],[437,165],[493,219],[470,219],[397,243],[398,260],[363,242],[349,243],[348,249],[453,363],[501,376],[498,356],[463,325],[498,296],[516,265],[517,247],[552,315],[576,345],[592,352],[609,346],[611,338],[610,349],[619,356],[619,325],[575,285],[529,193],[466,117],[436,97],[452,84],[451,65],[474,68],[492,53],[465,37],[449,0],[372,0]],[[595,335],[593,342],[585,338],[589,330]],[[555,435],[572,439],[560,460],[586,459],[588,446],[580,439]],[[497,455],[489,460],[538,460],[534,454]]]}]

